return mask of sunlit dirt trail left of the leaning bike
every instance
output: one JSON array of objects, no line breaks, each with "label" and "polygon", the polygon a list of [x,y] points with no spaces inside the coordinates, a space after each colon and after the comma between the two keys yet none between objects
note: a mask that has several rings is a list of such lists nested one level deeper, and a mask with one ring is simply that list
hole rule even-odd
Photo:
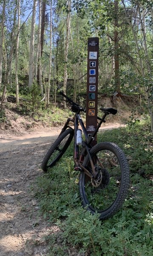
[{"label": "sunlit dirt trail left of the leaning bike", "polygon": [[32,186],[42,175],[42,159],[58,134],[59,130],[22,137],[1,136],[0,256],[47,254],[44,236],[55,227],[48,227],[43,219]]}]

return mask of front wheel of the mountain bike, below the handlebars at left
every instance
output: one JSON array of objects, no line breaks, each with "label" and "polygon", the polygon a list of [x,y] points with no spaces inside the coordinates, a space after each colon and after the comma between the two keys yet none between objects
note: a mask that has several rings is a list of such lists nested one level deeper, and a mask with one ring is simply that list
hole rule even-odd
[{"label": "front wheel of the mountain bike, below the handlebars at left", "polygon": [[62,134],[59,135],[57,140],[51,145],[51,148],[48,150],[45,155],[41,168],[44,172],[47,172],[48,168],[53,167],[57,161],[62,157],[62,155],[67,150],[70,145],[72,139],[74,137],[74,130],[72,128],[63,131]]}]

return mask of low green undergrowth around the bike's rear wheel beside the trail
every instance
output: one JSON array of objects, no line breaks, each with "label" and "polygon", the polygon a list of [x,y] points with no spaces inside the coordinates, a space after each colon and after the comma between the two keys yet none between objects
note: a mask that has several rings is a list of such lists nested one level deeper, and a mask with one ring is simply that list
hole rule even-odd
[{"label": "low green undergrowth around the bike's rear wheel beside the trail", "polygon": [[78,174],[70,145],[62,160],[39,178],[37,197],[44,218],[56,226],[46,237],[48,256],[151,256],[153,255],[153,142],[150,126],[140,122],[98,134],[127,155],[130,188],[127,199],[112,218],[99,221],[82,208]]}]

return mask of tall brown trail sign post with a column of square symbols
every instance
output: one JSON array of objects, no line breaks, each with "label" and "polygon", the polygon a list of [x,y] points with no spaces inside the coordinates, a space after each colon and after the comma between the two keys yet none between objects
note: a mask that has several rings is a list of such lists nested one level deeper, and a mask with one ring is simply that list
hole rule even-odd
[{"label": "tall brown trail sign post with a column of square symbols", "polygon": [[[86,130],[88,136],[97,126],[99,38],[88,38]],[[92,142],[96,145],[96,137]]]}]

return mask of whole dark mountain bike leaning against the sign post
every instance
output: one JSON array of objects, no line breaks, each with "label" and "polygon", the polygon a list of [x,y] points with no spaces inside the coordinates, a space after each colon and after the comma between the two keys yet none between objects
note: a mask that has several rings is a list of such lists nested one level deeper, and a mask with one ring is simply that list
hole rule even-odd
[{"label": "whole dark mountain bike leaning against the sign post", "polygon": [[[102,118],[97,117],[97,126],[88,134],[80,112],[85,113],[77,103],[60,92],[71,104],[75,113],[68,118],[57,140],[51,145],[42,161],[42,170],[47,172],[67,150],[74,138],[74,169],[79,172],[79,192],[82,205],[92,214],[99,213],[99,218],[106,219],[114,215],[122,206],[129,188],[129,166],[124,152],[118,145],[102,142],[92,146],[92,141],[105,118],[115,115],[114,108],[100,108]],[[73,123],[74,128],[70,124]],[[79,125],[81,129],[79,129]],[[78,132],[79,131],[79,132]],[[79,133],[79,136],[78,136]],[[82,139],[82,134],[85,139]]]}]

